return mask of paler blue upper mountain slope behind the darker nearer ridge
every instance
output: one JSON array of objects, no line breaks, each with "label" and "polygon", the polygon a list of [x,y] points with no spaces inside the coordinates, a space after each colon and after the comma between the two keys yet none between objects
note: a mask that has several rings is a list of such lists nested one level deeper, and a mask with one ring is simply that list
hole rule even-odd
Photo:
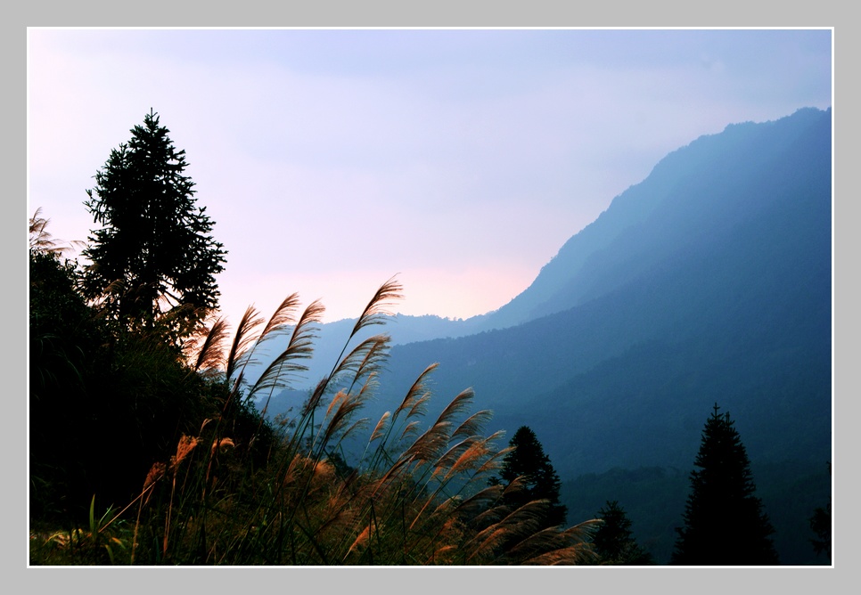
[{"label": "paler blue upper mountain slope behind the darker nearer ridge", "polygon": [[[779,199],[767,192],[768,180],[792,175],[781,169],[795,159],[781,153],[804,143],[808,127],[830,120],[830,114],[807,109],[775,122],[731,125],[670,153],[568,240],[528,289],[482,324],[504,328],[578,306],[673,252],[722,241],[727,228]],[[827,143],[817,149],[830,149]],[[809,151],[802,159],[830,163],[830,150]],[[748,200],[751,194],[758,199]]]}]

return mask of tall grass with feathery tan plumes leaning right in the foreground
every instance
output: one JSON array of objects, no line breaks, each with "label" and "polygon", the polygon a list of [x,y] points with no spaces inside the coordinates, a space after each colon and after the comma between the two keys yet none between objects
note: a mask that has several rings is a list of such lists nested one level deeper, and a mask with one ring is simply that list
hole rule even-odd
[{"label": "tall grass with feathery tan plumes leaning right in the foreground", "polygon": [[[218,388],[220,414],[182,436],[169,460],[154,461],[135,500],[91,523],[88,542],[102,554],[112,542],[111,563],[143,565],[592,562],[596,521],[541,528],[548,502],[511,509],[504,491],[520,483],[488,485],[508,449],[496,445],[501,432],[485,435],[490,412],[470,414],[471,390],[425,423],[436,364],[380,420],[360,417],[389,337],[359,341],[357,334],[383,321],[400,290],[394,280],[381,286],[332,371],[278,424],[266,421],[271,398],[307,370],[323,306],[315,302],[299,314],[293,295],[267,321],[250,307],[233,338],[223,319],[212,322],[186,346],[186,357],[192,373]],[[247,379],[248,364],[283,335],[287,347],[258,379]],[[252,412],[256,421],[238,423],[237,412]],[[365,443],[352,465],[345,441]],[[105,563],[103,555],[93,560]]]}]

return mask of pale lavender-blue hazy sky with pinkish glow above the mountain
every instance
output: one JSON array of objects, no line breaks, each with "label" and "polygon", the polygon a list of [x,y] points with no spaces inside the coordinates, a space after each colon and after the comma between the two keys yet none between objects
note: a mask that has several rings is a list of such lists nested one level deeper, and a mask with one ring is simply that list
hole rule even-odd
[{"label": "pale lavender-blue hazy sky with pinkish glow above the mountain", "polygon": [[832,105],[832,31],[29,29],[29,214],[62,240],[150,109],[228,250],[237,322],[504,306],[669,151]]}]

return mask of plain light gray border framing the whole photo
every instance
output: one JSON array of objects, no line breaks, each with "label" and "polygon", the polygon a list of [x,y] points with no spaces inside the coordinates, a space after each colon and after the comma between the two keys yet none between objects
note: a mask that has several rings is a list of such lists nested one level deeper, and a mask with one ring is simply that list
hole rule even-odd
[{"label": "plain light gray border framing the whole photo", "polygon": [[[53,2],[33,2],[21,4],[12,15],[7,14],[4,19],[4,72],[12,79],[12,84],[7,89],[12,93],[4,94],[5,113],[15,114],[12,119],[12,132],[4,134],[4,144],[8,146],[4,151],[4,162],[12,164],[9,171],[14,172],[12,196],[26,196],[26,152],[21,151],[21,146],[26,147],[26,28],[28,26],[230,26],[230,27],[273,27],[273,26],[302,26],[302,27],[585,27],[585,26],[613,26],[613,27],[737,27],[745,23],[745,26],[785,26],[785,27],[834,27],[835,39],[835,80],[838,69],[841,73],[848,74],[855,71],[853,57],[858,55],[857,42],[852,36],[852,28],[849,24],[849,14],[844,10],[838,10],[831,5],[817,3],[808,8],[791,8],[782,5],[779,9],[774,6],[756,6],[750,2],[734,2],[732,4],[722,3],[712,6],[695,6],[681,2],[663,2],[661,6],[655,3],[612,3],[612,4],[585,4],[574,5],[573,3],[561,5],[560,3],[513,3],[513,2],[436,2],[436,3],[414,3],[395,2],[332,2],[323,0],[313,5],[307,3],[291,3],[276,6],[263,3],[241,3],[234,4],[229,10],[218,11],[212,5],[202,3],[177,4],[176,2],[150,2],[140,4],[119,4],[108,2],[87,2],[61,4]],[[778,12],[779,10],[779,12]],[[743,19],[738,15],[743,15]],[[706,25],[706,23],[709,23]],[[716,24],[717,23],[717,24]],[[838,25],[837,23],[840,23]],[[849,332],[854,330],[854,325],[849,326],[847,320],[842,320],[841,325],[836,324],[836,313],[840,306],[855,303],[857,291],[851,283],[851,276],[839,277],[837,275],[838,265],[844,265],[843,269],[849,273],[845,266],[849,254],[855,254],[851,249],[854,240],[849,240],[849,224],[851,224],[854,201],[849,198],[849,189],[846,183],[847,177],[837,175],[838,171],[851,171],[849,169],[849,158],[852,153],[848,152],[849,143],[847,139],[851,136],[849,130],[856,128],[856,117],[853,109],[858,105],[853,99],[857,99],[857,91],[852,85],[853,78],[848,76],[843,79],[842,84],[835,83],[835,191],[834,191],[834,412],[835,412],[835,452],[840,445],[840,452],[848,452],[851,437],[849,432],[849,420],[855,418],[852,415],[857,411],[853,393],[846,380],[846,375],[838,377],[838,370],[846,370],[853,354],[848,353],[851,348],[849,344]],[[836,92],[840,90],[840,105],[848,106],[845,112],[837,108]],[[840,122],[840,127],[836,125]],[[842,149],[842,150],[840,150]],[[840,167],[843,166],[843,167]],[[5,167],[4,167],[5,169]],[[837,192],[837,188],[842,194]],[[838,196],[846,196],[842,201]],[[14,279],[26,278],[26,239],[22,237],[19,224],[29,216],[26,201],[13,199],[11,201],[12,217],[4,217],[4,254],[14,255],[6,257],[11,260],[7,271],[12,272]],[[21,205],[23,208],[21,208]],[[19,243],[20,242],[20,243]],[[12,249],[9,245],[12,244]],[[18,250],[21,249],[21,252]],[[856,248],[857,249],[857,248]],[[7,260],[7,262],[8,262]],[[12,303],[15,311],[25,311],[26,314],[26,284],[23,289],[14,284],[15,289],[11,295],[4,299],[6,304]],[[839,293],[838,293],[839,292]],[[851,300],[851,302],[850,302]],[[845,318],[845,316],[844,316]],[[26,324],[14,322],[15,333],[21,332],[26,338]],[[841,347],[841,348],[839,348]],[[7,420],[26,420],[26,401],[18,399],[15,395],[20,393],[15,387],[24,385],[21,392],[26,391],[26,346],[25,349],[7,349],[4,358],[6,374],[12,376],[13,390],[10,393],[8,403],[11,403],[12,413]],[[23,374],[19,371],[24,371]],[[840,380],[840,382],[838,382]],[[840,391],[838,391],[840,387]],[[836,395],[846,395],[838,399]],[[840,415],[836,415],[839,413]],[[21,483],[12,481],[15,486],[4,495],[4,509],[6,514],[2,516],[4,528],[4,559],[7,560],[6,568],[16,572],[7,575],[7,581],[17,585],[21,578],[38,583],[36,586],[47,588],[69,588],[72,586],[70,572],[86,572],[86,576],[74,578],[83,579],[87,583],[87,589],[95,588],[97,591],[115,590],[118,587],[123,591],[152,591],[159,589],[164,591],[179,591],[193,588],[195,590],[217,587],[217,592],[234,591],[237,588],[248,588],[252,569],[184,569],[180,575],[169,577],[149,577],[149,581],[136,581],[135,578],[141,573],[147,573],[149,569],[127,569],[109,570],[102,572],[87,572],[87,569],[54,569],[40,570],[27,568],[27,554],[21,552],[21,533],[26,532],[26,514],[17,513],[18,510],[26,510],[26,493],[19,489],[26,485],[27,469],[24,454],[26,452],[26,425],[8,424],[4,433],[5,456],[12,460],[12,465],[6,469],[14,469],[11,477],[21,477]],[[21,429],[19,429],[21,428]],[[840,439],[837,439],[839,436]],[[851,436],[851,434],[849,434]],[[23,448],[21,447],[23,444]],[[835,457],[833,464],[834,473],[839,476],[835,481],[835,487],[839,488],[840,496],[846,496],[849,491],[854,491],[854,474],[847,471],[841,474],[842,464],[852,466],[849,458]],[[847,467],[850,469],[850,467]],[[11,493],[10,493],[11,492]],[[20,508],[19,508],[20,507]],[[534,591],[536,587],[555,587],[562,589],[582,590],[588,587],[609,589],[631,589],[643,587],[644,573],[658,572],[660,576],[652,576],[655,586],[661,591],[687,592],[688,587],[696,585],[699,592],[724,591],[732,586],[738,590],[742,585],[754,583],[754,588],[761,589],[766,585],[768,591],[791,587],[790,592],[801,591],[840,591],[838,584],[849,583],[849,565],[854,558],[852,554],[855,548],[850,546],[854,531],[849,526],[855,526],[854,507],[850,498],[839,497],[834,494],[834,510],[840,512],[840,526],[844,528],[842,533],[835,532],[835,566],[832,569],[823,567],[811,567],[809,569],[690,569],[690,568],[668,568],[659,567],[654,569],[609,569],[609,568],[544,568],[544,569],[339,569],[340,574],[323,574],[318,569],[260,569],[260,572],[276,574],[260,575],[254,577],[255,588],[273,589],[295,589],[307,588],[310,582],[316,586],[326,585],[329,591],[334,587],[356,585],[356,579],[365,583],[365,588],[374,591],[420,591],[450,589],[456,583],[452,579],[464,579],[470,586],[478,586],[480,589],[504,589],[503,592],[512,591]],[[853,518],[849,518],[852,515]],[[22,523],[18,520],[22,519]],[[851,521],[851,524],[849,523]],[[23,525],[23,526],[21,526]],[[26,534],[26,533],[25,533]],[[23,554],[23,555],[22,555]],[[17,571],[27,573],[19,575]],[[434,576],[433,580],[422,580],[423,577],[415,575],[416,572],[444,572],[446,575]],[[558,575],[555,572],[570,573],[580,572],[576,577],[572,575]],[[844,579],[838,582],[837,571],[844,575]],[[114,575],[115,572],[132,573],[122,576]],[[155,572],[155,570],[152,570]],[[283,574],[286,572],[287,574]],[[539,572],[541,575],[529,574]],[[189,575],[189,573],[195,573]],[[410,573],[404,576],[403,573]],[[454,574],[452,574],[454,573]],[[480,573],[480,575],[478,575]],[[585,573],[585,574],[584,574]],[[596,574],[599,573],[599,574]],[[768,575],[763,575],[768,573]],[[814,574],[816,573],[816,574]],[[822,574],[825,573],[825,574]],[[153,578],[155,580],[153,580]],[[398,580],[403,578],[405,583]],[[165,580],[167,579],[167,580]],[[179,579],[179,580],[177,580]],[[261,580],[262,579],[262,580]],[[286,579],[286,580],[285,580]],[[297,584],[296,579],[299,579]],[[742,581],[744,583],[742,583]],[[77,582],[77,581],[76,581]],[[42,583],[45,583],[44,585]],[[332,584],[335,583],[335,584]],[[748,591],[742,588],[742,591]]]}]

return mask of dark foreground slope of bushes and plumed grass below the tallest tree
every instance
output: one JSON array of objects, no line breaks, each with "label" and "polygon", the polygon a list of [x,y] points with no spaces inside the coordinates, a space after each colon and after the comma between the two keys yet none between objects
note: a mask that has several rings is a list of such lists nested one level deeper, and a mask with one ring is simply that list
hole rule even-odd
[{"label": "dark foreground slope of bushes and plumed grass below the tallest tree", "polygon": [[[423,426],[436,365],[373,426],[357,419],[389,338],[353,339],[382,322],[396,281],[365,307],[331,373],[270,423],[270,397],[313,354],[322,305],[299,314],[292,295],[267,321],[250,307],[233,337],[216,318],[177,345],[169,313],[127,325],[88,302],[76,264],[30,223],[30,564],[594,560],[594,521],[545,528],[546,501],[512,506],[520,482],[487,485],[509,450],[495,446],[501,432],[484,435],[490,412],[468,414],[471,390]],[[286,348],[247,379],[283,335]],[[353,460],[344,444],[363,429]]]}]

